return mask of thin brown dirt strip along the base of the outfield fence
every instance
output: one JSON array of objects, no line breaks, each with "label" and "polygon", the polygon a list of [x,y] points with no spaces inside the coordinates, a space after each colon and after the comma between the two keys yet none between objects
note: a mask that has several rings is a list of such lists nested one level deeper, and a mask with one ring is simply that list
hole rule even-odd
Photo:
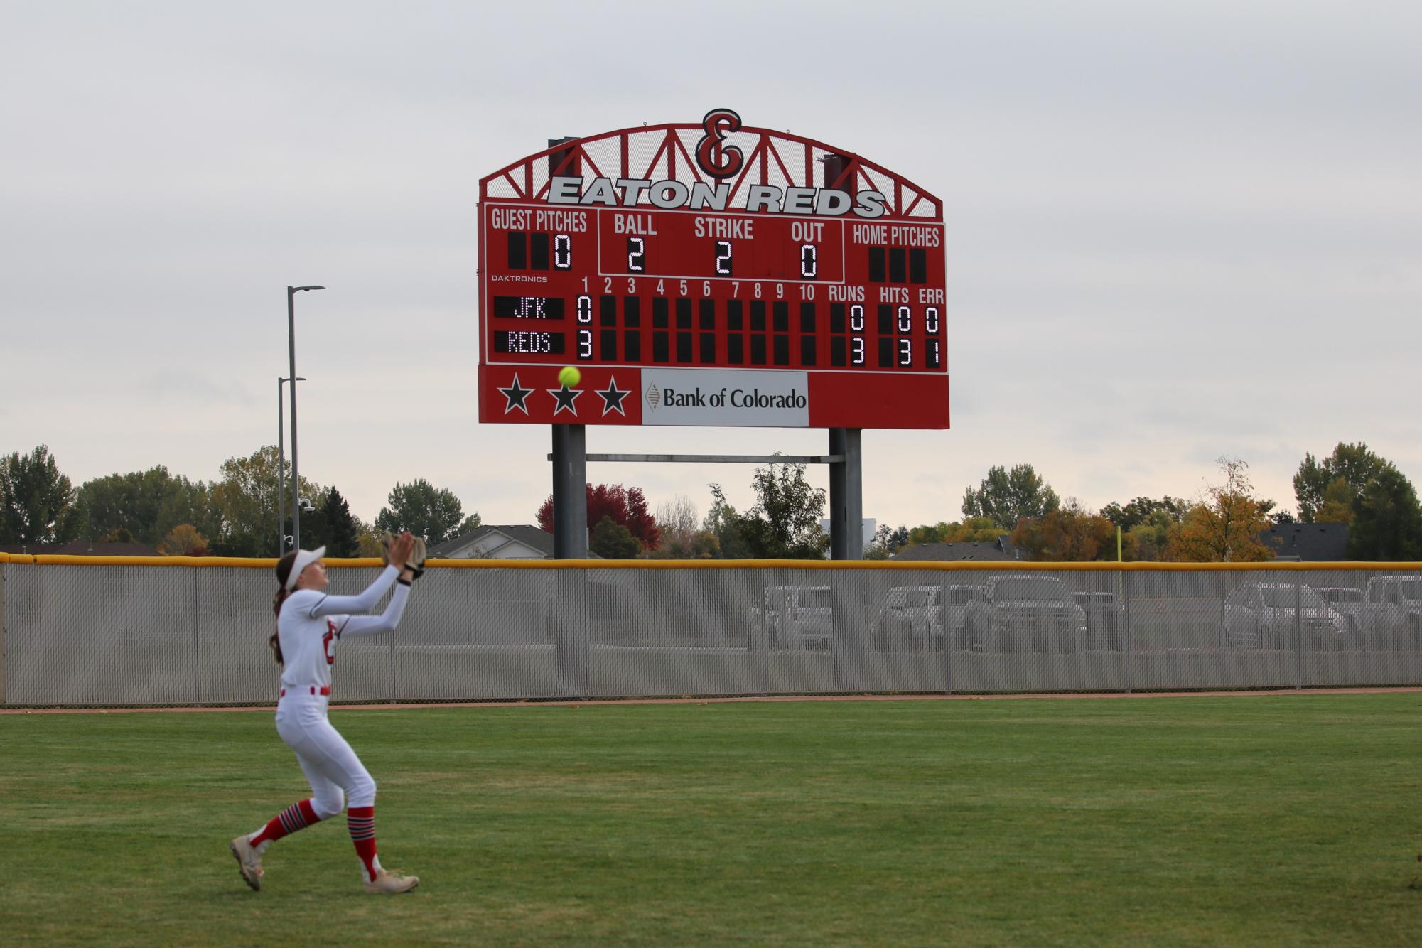
[{"label": "thin brown dirt strip along the base of the outfield fence", "polygon": [[[414,702],[384,702],[384,704],[331,704],[331,711],[412,711],[419,708],[580,708],[589,705],[617,706],[617,705],[707,705],[707,704],[745,704],[745,702],[801,702],[801,701],[1106,701],[1116,698],[1284,698],[1303,695],[1408,695],[1422,692],[1422,688],[1253,688],[1246,691],[1101,691],[1101,692],[1022,692],[997,695],[734,695],[734,696],[693,696],[683,698],[589,698],[589,699],[557,699],[557,701],[414,701]],[[0,715],[128,715],[128,713],[205,713],[205,712],[240,712],[264,711],[272,713],[276,704],[270,705],[164,705],[152,708],[0,708]]]}]

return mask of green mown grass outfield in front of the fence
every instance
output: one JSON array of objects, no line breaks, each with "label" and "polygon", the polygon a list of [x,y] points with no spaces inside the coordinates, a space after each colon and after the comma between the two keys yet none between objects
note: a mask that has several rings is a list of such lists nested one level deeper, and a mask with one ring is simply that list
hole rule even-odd
[{"label": "green mown grass outfield in front of the fence", "polygon": [[[0,942],[1416,944],[1422,694],[0,715]],[[1422,883],[1418,883],[1422,885]]]}]

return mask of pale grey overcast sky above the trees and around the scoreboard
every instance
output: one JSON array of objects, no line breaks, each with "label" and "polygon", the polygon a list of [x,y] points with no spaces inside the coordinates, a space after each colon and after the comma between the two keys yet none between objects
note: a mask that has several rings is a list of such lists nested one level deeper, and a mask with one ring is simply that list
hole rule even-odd
[{"label": "pale grey overcast sky above the trees and around the scoreboard", "polygon": [[[1419,36],[1415,1],[6,3],[0,452],[216,478],[276,442],[316,283],[301,472],[367,520],[427,478],[530,523],[547,428],[476,422],[478,181],[728,107],[943,199],[953,426],[865,432],[865,516],[960,519],[1024,462],[1091,507],[1193,496],[1221,455],[1293,507],[1340,441],[1418,482]],[[751,472],[589,465],[700,513]]]}]

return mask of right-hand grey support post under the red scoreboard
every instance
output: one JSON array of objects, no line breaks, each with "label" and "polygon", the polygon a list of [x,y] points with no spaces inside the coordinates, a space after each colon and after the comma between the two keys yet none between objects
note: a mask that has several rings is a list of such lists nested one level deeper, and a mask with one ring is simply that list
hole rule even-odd
[{"label": "right-hand grey support post under the red scoreboard", "polygon": [[[830,428],[829,453],[840,460],[829,465],[829,557],[860,560],[865,554],[863,431]],[[830,574],[830,647],[835,659],[835,691],[860,691],[865,686],[865,651],[867,634],[865,598],[850,584],[850,574]]]}]

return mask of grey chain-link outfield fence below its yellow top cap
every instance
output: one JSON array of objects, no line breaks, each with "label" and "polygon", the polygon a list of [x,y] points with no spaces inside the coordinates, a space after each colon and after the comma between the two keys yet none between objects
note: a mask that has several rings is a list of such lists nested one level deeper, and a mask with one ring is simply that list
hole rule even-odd
[{"label": "grey chain-link outfield fence below its yellow top cap", "polygon": [[[0,704],[276,699],[270,563],[16,559]],[[432,567],[395,634],[340,645],[333,699],[1422,684],[1415,563],[508,563]]]}]

